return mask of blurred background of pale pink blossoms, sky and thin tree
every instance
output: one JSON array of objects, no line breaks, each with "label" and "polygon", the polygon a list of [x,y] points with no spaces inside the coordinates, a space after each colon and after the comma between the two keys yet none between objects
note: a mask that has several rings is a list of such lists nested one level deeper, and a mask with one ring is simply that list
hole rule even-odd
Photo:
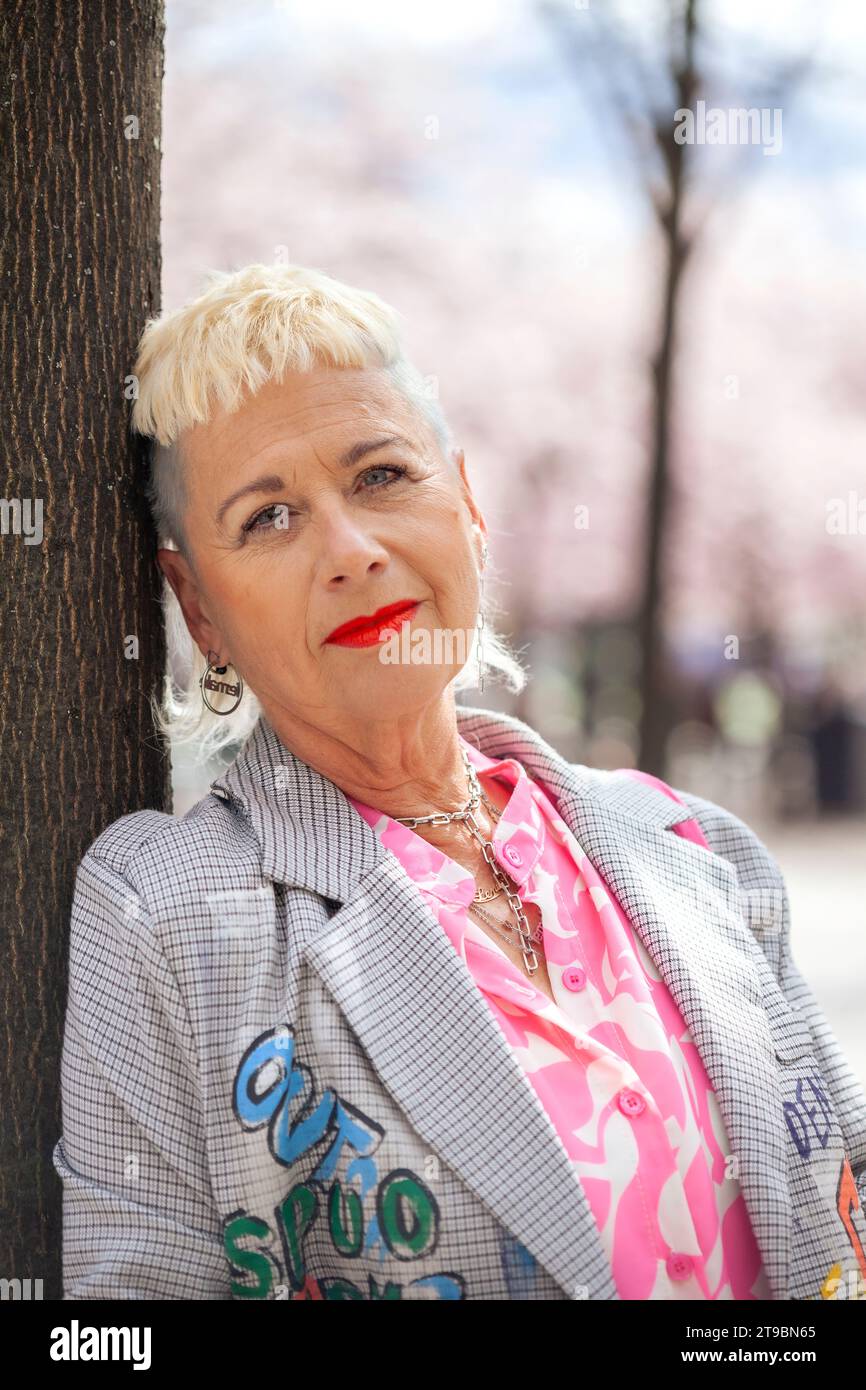
[{"label": "blurred background of pale pink blossoms, sky and thin tree", "polygon": [[402,311],[530,669],[463,702],[753,826],[862,1079],[865,56],[845,0],[168,0],[163,136],[164,307]]}]

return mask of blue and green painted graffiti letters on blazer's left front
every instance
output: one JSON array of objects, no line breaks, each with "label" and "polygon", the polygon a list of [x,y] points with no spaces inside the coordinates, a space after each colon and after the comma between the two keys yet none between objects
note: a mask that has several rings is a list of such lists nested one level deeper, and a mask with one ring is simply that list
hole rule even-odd
[{"label": "blue and green painted graffiti letters on blazer's left front", "polygon": [[[310,1068],[296,1056],[289,1027],[271,1029],[247,1048],[232,1088],[235,1119],[245,1130],[267,1126],[274,1162],[289,1168],[311,1151],[318,1162],[295,1183],[270,1220],[234,1212],[224,1247],[235,1298],[463,1298],[460,1275],[411,1277],[411,1262],[432,1255],[439,1207],[409,1168],[379,1173],[375,1152],[384,1129],[331,1088],[317,1093]],[[345,1179],[336,1169],[346,1159]],[[346,1277],[317,1279],[306,1268],[310,1232],[324,1229]],[[371,1259],[405,1264],[406,1279],[377,1277]],[[352,1261],[366,1261],[356,1277]]]}]

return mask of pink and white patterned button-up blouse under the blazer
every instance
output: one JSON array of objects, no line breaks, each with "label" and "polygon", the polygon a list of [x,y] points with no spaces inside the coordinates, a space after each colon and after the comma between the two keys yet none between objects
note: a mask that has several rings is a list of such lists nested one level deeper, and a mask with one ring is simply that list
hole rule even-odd
[{"label": "pink and white patterned button-up blouse under the blazer", "polygon": [[[499,1020],[571,1158],[620,1297],[770,1298],[727,1175],[716,1095],[642,941],[538,783],[514,759],[461,744],[480,774],[510,788],[493,848],[524,902],[538,903],[556,1004],[467,912],[468,870],[350,801],[416,881]],[[694,821],[674,828],[705,844]]]}]

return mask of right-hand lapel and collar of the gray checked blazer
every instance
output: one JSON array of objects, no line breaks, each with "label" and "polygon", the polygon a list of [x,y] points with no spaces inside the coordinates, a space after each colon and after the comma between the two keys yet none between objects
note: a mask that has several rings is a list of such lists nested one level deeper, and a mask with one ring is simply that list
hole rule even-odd
[{"label": "right-hand lapel and collar of the gray checked blazer", "polygon": [[617,897],[683,1015],[710,1079],[773,1298],[788,1297],[791,1197],[778,1077],[737,870],[671,827],[691,810],[630,777],[567,763],[534,730],[471,710],[460,733],[489,756],[510,752],[559,812]]}]

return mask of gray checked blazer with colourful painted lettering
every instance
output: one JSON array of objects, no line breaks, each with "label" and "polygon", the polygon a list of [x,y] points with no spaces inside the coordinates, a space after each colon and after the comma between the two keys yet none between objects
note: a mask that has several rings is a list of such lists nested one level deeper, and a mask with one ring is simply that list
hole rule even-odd
[{"label": "gray checked blazer with colourful painted lettering", "polygon": [[[457,720],[549,790],[656,962],[773,1297],[862,1297],[866,1095],[792,960],[763,844],[699,796],[566,762],[517,719]],[[691,816],[713,852],[671,831]],[[264,717],[185,816],[121,816],[88,849],[68,991],[65,1298],[619,1297],[463,960]]]}]

